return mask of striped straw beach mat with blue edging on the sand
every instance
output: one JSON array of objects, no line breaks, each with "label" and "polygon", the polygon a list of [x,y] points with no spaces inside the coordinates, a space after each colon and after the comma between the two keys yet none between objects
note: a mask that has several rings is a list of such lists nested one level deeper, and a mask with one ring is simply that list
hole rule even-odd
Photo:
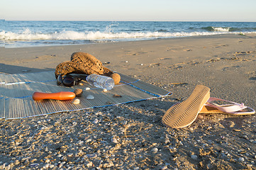
[{"label": "striped straw beach mat with blue edging on the sand", "polygon": [[[56,93],[86,89],[87,87],[90,90],[84,90],[82,96],[79,97],[80,103],[77,105],[72,101],[33,101],[32,98],[35,91]],[[94,96],[94,99],[87,99],[89,94]],[[169,95],[171,93],[165,89],[124,74],[121,74],[121,83],[106,92],[90,86],[86,81],[82,81],[82,85],[72,87],[57,86],[54,72],[0,74],[0,118],[16,119],[65,111],[79,111]]]}]

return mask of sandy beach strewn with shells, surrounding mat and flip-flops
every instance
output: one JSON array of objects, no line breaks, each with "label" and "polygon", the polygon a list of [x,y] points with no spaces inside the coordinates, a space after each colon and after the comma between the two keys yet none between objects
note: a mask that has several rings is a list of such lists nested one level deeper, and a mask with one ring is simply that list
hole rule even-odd
[{"label": "sandy beach strewn with shells, surrounding mat and flip-flops", "polygon": [[256,169],[256,115],[199,114],[162,125],[195,86],[256,108],[256,35],[1,49],[5,74],[54,70],[72,52],[172,91],[172,96],[85,111],[0,120],[0,169]]}]

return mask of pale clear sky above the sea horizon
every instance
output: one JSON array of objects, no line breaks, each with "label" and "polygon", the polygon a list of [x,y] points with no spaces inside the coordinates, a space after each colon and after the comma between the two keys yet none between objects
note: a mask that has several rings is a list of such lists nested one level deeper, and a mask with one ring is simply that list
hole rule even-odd
[{"label": "pale clear sky above the sea horizon", "polygon": [[252,21],[256,0],[1,0],[16,21]]}]

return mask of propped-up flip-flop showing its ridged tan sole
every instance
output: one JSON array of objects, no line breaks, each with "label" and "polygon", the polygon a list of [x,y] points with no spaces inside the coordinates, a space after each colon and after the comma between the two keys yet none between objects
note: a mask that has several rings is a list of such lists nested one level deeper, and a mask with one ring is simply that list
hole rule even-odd
[{"label": "propped-up flip-flop showing its ridged tan sole", "polygon": [[170,128],[184,128],[191,125],[209,98],[210,89],[197,85],[186,101],[176,103],[167,110],[162,117],[162,123]]}]

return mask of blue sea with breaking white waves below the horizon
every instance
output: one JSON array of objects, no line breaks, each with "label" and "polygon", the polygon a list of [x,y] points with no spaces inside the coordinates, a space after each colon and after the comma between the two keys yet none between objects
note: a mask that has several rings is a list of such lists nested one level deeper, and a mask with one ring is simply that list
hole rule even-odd
[{"label": "blue sea with breaking white waves below the horizon", "polygon": [[5,21],[1,47],[81,45],[218,34],[256,33],[256,22]]}]

